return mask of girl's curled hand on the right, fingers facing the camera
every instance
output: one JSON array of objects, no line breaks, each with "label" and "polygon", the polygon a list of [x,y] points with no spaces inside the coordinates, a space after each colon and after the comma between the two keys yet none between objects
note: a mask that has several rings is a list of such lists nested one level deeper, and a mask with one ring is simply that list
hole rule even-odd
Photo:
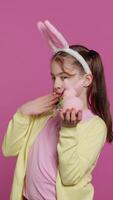
[{"label": "girl's curled hand on the right, fingers facing the camera", "polygon": [[60,110],[61,124],[65,127],[75,127],[82,120],[82,111],[76,111],[75,108]]}]

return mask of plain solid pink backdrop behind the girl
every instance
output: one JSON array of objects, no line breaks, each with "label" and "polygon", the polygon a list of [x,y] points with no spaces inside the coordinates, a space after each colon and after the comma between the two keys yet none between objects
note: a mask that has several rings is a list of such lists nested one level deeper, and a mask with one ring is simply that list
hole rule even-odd
[{"label": "plain solid pink backdrop behind the girl", "polygon": [[[51,52],[36,28],[38,20],[50,20],[70,44],[100,52],[113,114],[112,7],[112,0],[0,0],[0,143],[17,108],[52,89]],[[106,143],[93,171],[95,200],[113,199],[112,152],[113,145]],[[9,200],[15,162],[16,158],[6,159],[1,153],[1,200]]]}]

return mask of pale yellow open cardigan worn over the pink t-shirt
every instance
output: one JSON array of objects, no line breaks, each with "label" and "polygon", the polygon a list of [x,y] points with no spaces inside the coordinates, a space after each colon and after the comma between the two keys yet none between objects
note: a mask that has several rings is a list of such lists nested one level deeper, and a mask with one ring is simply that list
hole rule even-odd
[{"label": "pale yellow open cardigan worn over the pink t-shirt", "polygon": [[[17,111],[9,121],[4,136],[4,156],[18,156],[10,200],[22,200],[22,190],[28,152],[37,134],[54,112],[27,116]],[[94,116],[76,127],[61,127],[57,151],[59,165],[56,179],[57,200],[92,200],[94,187],[91,172],[94,169],[107,136],[107,126]]]}]

